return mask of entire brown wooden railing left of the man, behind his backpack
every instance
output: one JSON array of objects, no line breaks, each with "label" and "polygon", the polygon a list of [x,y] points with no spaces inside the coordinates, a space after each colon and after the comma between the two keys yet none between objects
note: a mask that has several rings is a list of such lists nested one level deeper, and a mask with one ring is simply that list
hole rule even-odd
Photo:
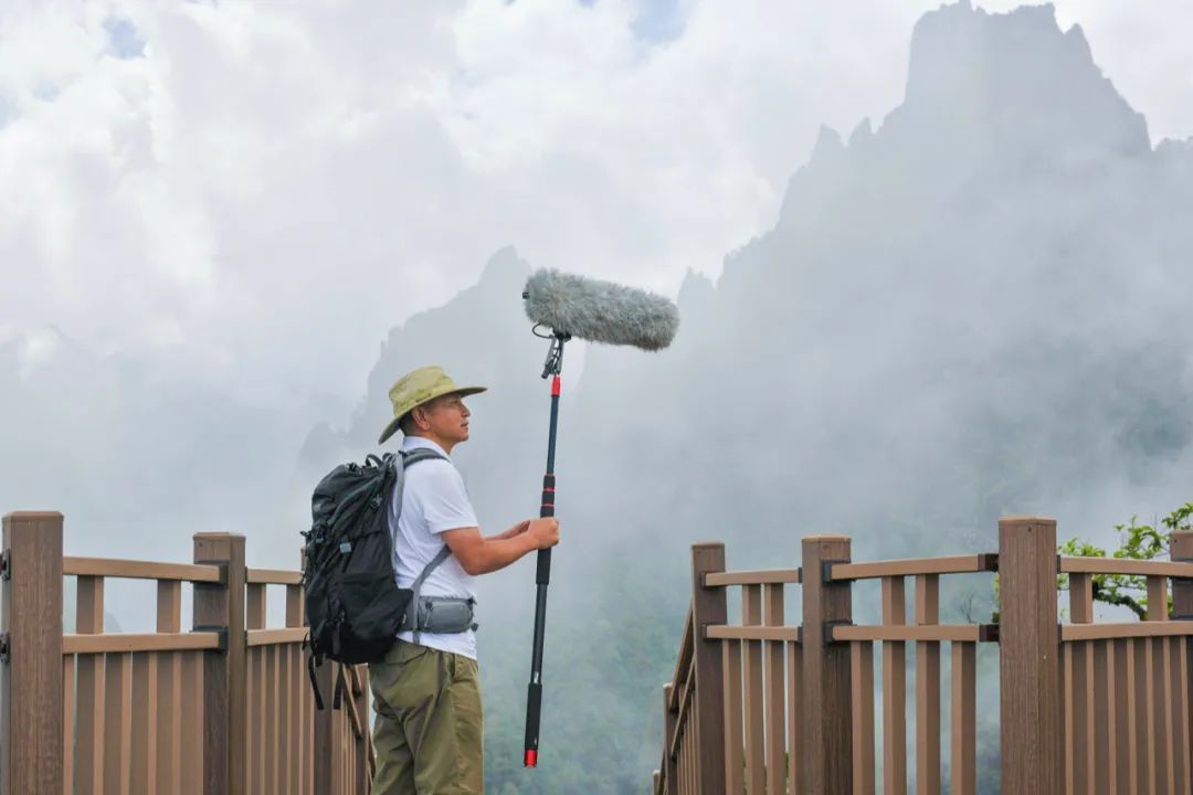
[{"label": "entire brown wooden railing left of the man, behind his backpack", "polygon": [[[246,567],[243,536],[196,535],[191,564],[75,558],[61,514],[10,514],[2,578],[5,795],[369,790],[367,671],[324,664],[315,709],[301,573]],[[156,583],[156,632],[105,633],[109,579]],[[284,627],[266,626],[270,585],[284,588]]]}]

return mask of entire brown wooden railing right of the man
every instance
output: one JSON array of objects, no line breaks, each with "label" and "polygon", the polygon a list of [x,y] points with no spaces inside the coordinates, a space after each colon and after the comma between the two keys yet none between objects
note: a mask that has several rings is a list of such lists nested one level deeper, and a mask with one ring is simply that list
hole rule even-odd
[{"label": "entire brown wooden railing right of the man", "polygon": [[[814,536],[803,540],[801,567],[771,571],[727,572],[723,546],[693,547],[692,607],[663,688],[656,795],[873,795],[879,780],[884,795],[902,795],[910,772],[917,795],[972,795],[979,644],[997,644],[1003,793],[1193,793],[1193,533],[1173,534],[1173,561],[1062,558],[1056,522],[1044,518],[1003,520],[999,534],[997,554],[877,563],[853,563],[847,536]],[[940,623],[940,577],[977,572],[999,572],[999,623]],[[1063,625],[1058,573],[1069,576]],[[1094,623],[1096,573],[1145,577],[1146,620]],[[865,579],[880,583],[878,625],[853,623],[852,585]],[[784,589],[797,584],[799,625],[784,616]],[[727,614],[729,588],[741,589],[740,626],[716,620]],[[947,757],[942,673],[951,685]]]}]

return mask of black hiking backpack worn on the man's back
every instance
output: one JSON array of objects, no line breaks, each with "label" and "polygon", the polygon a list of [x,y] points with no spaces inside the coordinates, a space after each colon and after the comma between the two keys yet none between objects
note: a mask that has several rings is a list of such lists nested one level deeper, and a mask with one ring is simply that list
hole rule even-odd
[{"label": "black hiking backpack worn on the man's back", "polygon": [[320,709],[315,666],[323,658],[348,665],[379,662],[407,620],[413,591],[394,582],[389,507],[404,467],[443,455],[415,449],[400,456],[341,464],[311,495],[302,584],[310,627],[307,667]]}]

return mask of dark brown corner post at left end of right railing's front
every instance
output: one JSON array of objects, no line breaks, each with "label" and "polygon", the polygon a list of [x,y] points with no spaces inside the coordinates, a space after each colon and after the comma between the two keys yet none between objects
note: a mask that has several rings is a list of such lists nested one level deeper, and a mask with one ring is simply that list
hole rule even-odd
[{"label": "dark brown corner post at left end of right railing's front", "polygon": [[[692,657],[696,663],[696,718],[697,746],[700,749],[697,791],[700,795],[717,795],[724,791],[725,758],[725,694],[723,683],[723,657],[721,641],[709,640],[704,632],[710,626],[724,625],[729,620],[725,589],[707,588],[704,576],[725,570],[724,544],[692,545]],[[669,789],[679,791],[676,783],[668,781]]]}]

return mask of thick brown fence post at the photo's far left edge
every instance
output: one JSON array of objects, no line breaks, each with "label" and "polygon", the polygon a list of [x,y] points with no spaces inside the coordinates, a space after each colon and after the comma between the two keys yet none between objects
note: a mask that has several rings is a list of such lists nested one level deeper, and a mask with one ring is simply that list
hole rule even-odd
[{"label": "thick brown fence post at the photo's far left edge", "polygon": [[4,517],[4,795],[62,789],[62,514]]}]

